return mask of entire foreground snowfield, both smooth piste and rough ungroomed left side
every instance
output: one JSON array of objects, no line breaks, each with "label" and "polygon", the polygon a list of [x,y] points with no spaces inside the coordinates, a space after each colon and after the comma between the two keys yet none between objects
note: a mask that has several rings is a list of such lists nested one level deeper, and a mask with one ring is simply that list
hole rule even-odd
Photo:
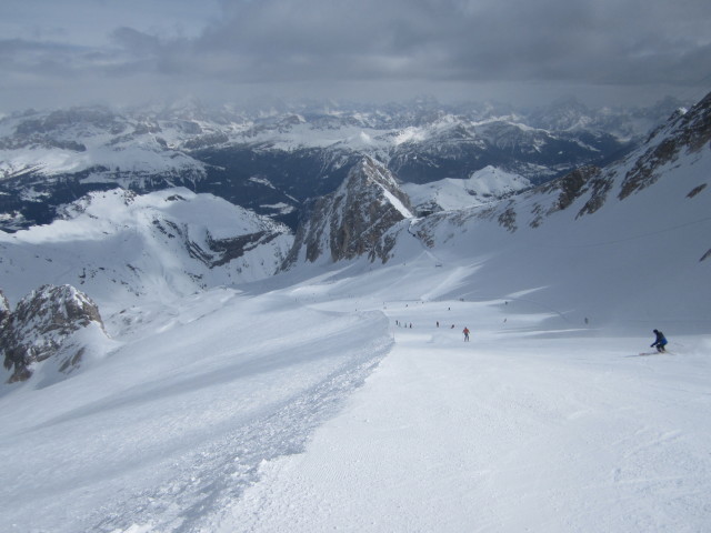
[{"label": "entire foreground snowfield, both smooth piste and rough ungroomed left side", "polygon": [[104,360],[0,389],[3,531],[708,531],[708,331],[657,354],[664,324],[462,301],[472,271],[133,308]]}]

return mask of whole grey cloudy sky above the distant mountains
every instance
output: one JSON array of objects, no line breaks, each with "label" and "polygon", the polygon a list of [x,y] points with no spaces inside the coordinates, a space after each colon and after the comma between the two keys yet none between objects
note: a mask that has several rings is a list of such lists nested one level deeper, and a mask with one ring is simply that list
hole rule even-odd
[{"label": "whole grey cloudy sky above the distant mountains", "polygon": [[189,97],[698,100],[711,2],[2,0],[0,70],[0,112]]}]

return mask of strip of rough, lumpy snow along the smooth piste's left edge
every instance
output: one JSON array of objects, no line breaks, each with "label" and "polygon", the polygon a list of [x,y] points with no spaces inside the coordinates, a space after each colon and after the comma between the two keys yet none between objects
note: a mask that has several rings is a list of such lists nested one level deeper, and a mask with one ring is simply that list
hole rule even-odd
[{"label": "strip of rough, lumpy snow along the smooth piste's left edge", "polygon": [[[380,312],[359,313],[380,315]],[[81,530],[86,533],[147,531],[198,533],[211,531],[229,503],[260,480],[264,462],[299,454],[313,431],[336,415],[343,402],[390,352],[389,333],[372,338],[353,350],[348,361],[319,383],[280,401],[262,416],[248,421],[219,440],[198,446],[180,457],[178,475],[158,486],[118,501],[112,509],[97,510]]]}]

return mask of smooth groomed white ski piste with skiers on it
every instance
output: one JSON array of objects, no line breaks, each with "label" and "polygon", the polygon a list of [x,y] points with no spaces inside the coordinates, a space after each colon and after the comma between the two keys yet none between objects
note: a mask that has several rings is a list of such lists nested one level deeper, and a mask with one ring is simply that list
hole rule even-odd
[{"label": "smooth groomed white ski piste with skiers on it", "polygon": [[263,464],[202,531],[705,531],[708,336],[638,356],[647,339],[412,306],[389,305],[413,329],[307,453]]}]

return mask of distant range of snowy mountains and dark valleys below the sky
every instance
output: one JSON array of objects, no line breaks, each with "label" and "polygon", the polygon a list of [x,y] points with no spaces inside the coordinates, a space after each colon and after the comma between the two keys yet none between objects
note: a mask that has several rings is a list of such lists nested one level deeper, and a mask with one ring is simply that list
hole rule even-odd
[{"label": "distant range of snowy mountains and dark valleys below the sky", "polygon": [[405,182],[468,179],[493,165],[540,183],[602,164],[655,125],[628,111],[577,109],[573,128],[562,114],[569,120],[545,122],[540,113],[432,101],[269,113],[28,111],[0,120],[0,229],[50,223],[59,205],[116,187],[187,187],[294,229],[304,202],[336,190],[363,154]]}]

